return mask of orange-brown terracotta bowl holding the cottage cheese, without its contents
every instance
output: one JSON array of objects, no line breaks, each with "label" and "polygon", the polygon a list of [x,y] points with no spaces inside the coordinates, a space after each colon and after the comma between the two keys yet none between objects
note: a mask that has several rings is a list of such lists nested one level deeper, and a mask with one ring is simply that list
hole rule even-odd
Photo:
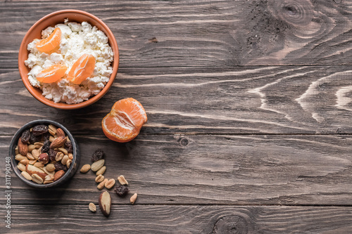
[{"label": "orange-brown terracotta bowl holding the cottage cheese, without its contents", "polygon": [[[32,42],[34,39],[41,39],[42,30],[44,30],[46,27],[49,27],[49,26],[54,27],[58,23],[63,23],[63,20],[65,20],[65,18],[68,18],[68,20],[71,22],[86,21],[86,22],[89,22],[89,24],[91,24],[92,26],[98,27],[98,29],[103,31],[108,37],[108,43],[110,44],[114,53],[114,58],[112,63],[113,73],[111,74],[111,77],[108,83],[106,84],[106,86],[96,96],[92,96],[92,98],[89,98],[89,100],[85,100],[84,102],[77,103],[77,104],[54,103],[53,100],[46,99],[44,96],[42,96],[42,90],[30,85],[30,82],[27,76],[28,72],[30,72],[30,68],[25,65],[25,60],[27,60],[28,54],[30,53],[30,51],[27,51],[27,45],[30,44],[30,42]],[[32,96],[34,96],[34,98],[37,98],[37,100],[41,101],[42,103],[49,105],[53,108],[60,108],[60,109],[67,109],[67,110],[84,108],[87,105],[91,105],[92,103],[95,103],[97,100],[99,100],[108,91],[108,89],[110,89],[111,85],[113,84],[115,76],[118,73],[118,63],[119,63],[118,44],[116,42],[115,37],[113,36],[113,33],[108,28],[108,26],[106,26],[106,24],[96,16],[90,13],[87,13],[85,11],[78,11],[78,10],[56,11],[38,20],[25,34],[25,37],[23,38],[23,41],[20,45],[20,51],[18,53],[18,69],[20,70],[20,77],[23,80],[23,84],[25,84],[25,87],[27,88],[28,91],[30,91]]]}]

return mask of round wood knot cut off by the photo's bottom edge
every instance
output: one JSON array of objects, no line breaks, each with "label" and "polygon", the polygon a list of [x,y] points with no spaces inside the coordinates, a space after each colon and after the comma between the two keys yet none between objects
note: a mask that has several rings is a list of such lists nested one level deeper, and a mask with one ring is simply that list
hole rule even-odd
[{"label": "round wood knot cut off by the photo's bottom edge", "polygon": [[231,233],[244,234],[249,233],[249,224],[244,217],[239,215],[222,216],[215,222],[211,234]]}]

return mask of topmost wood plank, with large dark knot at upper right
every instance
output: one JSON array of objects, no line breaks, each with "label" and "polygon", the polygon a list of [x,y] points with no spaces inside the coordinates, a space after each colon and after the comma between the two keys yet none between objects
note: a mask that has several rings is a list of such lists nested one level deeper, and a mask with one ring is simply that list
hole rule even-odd
[{"label": "topmost wood plank, with large dark knot at upper right", "polygon": [[0,67],[17,67],[25,32],[65,8],[111,27],[120,67],[352,64],[351,1],[92,1],[0,3]]}]

